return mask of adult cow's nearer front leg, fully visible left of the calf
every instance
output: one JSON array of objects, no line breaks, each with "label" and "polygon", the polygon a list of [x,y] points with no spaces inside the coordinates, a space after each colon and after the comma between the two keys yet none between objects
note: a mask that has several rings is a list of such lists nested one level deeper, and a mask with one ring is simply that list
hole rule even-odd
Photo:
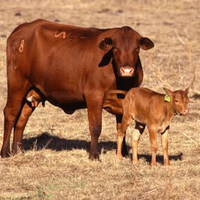
[{"label": "adult cow's nearer front leg, fully visible left of the calf", "polygon": [[103,98],[94,98],[94,94],[91,97],[87,97],[87,109],[89,129],[91,134],[91,147],[90,147],[90,159],[99,159],[98,139],[101,134],[102,127],[102,106]]}]

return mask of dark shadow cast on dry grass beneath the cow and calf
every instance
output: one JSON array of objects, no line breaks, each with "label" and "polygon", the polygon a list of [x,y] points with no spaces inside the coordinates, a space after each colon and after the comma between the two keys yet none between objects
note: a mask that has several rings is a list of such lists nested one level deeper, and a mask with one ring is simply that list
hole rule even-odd
[{"label": "dark shadow cast on dry grass beneath the cow and calf", "polygon": [[[25,151],[35,149],[37,151],[41,149],[51,149],[54,151],[62,151],[62,150],[73,150],[73,149],[85,149],[89,152],[90,142],[85,140],[77,140],[77,139],[65,139],[60,138],[58,136],[51,135],[47,132],[42,133],[36,137],[23,139],[23,148]],[[116,150],[116,142],[113,141],[105,141],[99,142],[99,150],[100,154],[106,154],[107,151]],[[131,149],[129,145],[127,145],[128,152]],[[132,157],[132,154],[129,154]],[[178,155],[169,156],[169,160],[182,160],[183,153]],[[147,154],[139,154],[138,159],[145,159],[147,162],[151,163],[151,155]],[[163,164],[163,156],[157,155],[157,162]]]}]

